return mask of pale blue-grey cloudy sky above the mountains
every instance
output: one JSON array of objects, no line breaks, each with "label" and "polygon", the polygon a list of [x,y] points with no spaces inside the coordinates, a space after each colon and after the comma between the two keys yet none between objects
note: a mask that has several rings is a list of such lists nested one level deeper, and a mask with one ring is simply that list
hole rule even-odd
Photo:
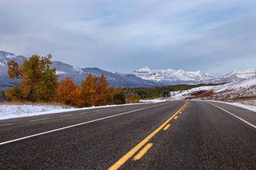
[{"label": "pale blue-grey cloudy sky above the mountains", "polygon": [[0,50],[131,73],[256,67],[256,1],[0,0]]}]

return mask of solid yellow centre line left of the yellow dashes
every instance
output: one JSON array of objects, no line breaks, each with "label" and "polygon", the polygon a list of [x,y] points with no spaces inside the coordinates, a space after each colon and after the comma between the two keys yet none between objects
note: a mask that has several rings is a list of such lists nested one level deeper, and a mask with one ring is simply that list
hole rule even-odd
[{"label": "solid yellow centre line left of the yellow dashes", "polygon": [[[119,159],[108,170],[114,170],[114,169],[118,169],[119,167],[121,167],[122,164],[124,164],[128,159],[130,159],[131,156],[133,156],[143,145],[145,145],[152,137],[154,137],[154,135],[156,133],[158,133],[158,131],[163,129],[164,126],[166,126],[166,124],[168,124],[168,122],[170,122],[172,120],[172,118],[174,118],[176,116],[177,113],[179,113],[185,106],[187,106],[187,104],[188,104],[188,101],[182,108],[179,109],[179,111],[177,111],[172,117],[170,117],[166,122],[164,122],[164,124],[162,124],[158,129],[153,131],[153,133],[148,135],[148,137],[146,137],[143,141],[141,141],[141,143],[139,143],[137,146],[135,146],[133,149],[131,149],[129,152],[127,152],[127,154],[125,154],[125,156],[123,156],[121,159]],[[148,145],[148,146],[150,146],[150,145]]]}]

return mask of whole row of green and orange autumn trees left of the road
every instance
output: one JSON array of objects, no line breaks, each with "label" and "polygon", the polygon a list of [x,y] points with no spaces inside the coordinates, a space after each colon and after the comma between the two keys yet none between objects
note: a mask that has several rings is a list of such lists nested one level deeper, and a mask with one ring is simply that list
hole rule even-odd
[{"label": "whole row of green and orange autumn trees left of the road", "polygon": [[121,88],[109,88],[104,74],[89,74],[79,85],[69,76],[58,82],[56,69],[50,67],[51,58],[51,54],[47,57],[33,55],[24,59],[20,65],[15,61],[8,62],[9,78],[19,79],[21,85],[15,84],[11,89],[6,88],[6,99],[32,103],[55,101],[78,108],[126,103],[125,92]]}]

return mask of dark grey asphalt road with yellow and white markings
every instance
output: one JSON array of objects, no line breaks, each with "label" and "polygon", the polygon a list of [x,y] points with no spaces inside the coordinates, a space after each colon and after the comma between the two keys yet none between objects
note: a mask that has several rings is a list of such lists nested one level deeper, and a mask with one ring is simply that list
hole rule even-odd
[{"label": "dark grey asphalt road with yellow and white markings", "polygon": [[204,101],[1,120],[0,169],[256,169],[255,126],[255,112]]}]

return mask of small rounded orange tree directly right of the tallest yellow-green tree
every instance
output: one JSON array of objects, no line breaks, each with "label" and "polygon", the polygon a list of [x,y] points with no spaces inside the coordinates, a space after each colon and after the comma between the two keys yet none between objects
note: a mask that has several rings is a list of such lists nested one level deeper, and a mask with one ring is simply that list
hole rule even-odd
[{"label": "small rounded orange tree directly right of the tallest yellow-green tree", "polygon": [[64,80],[60,80],[56,91],[58,102],[76,105],[76,85],[71,77],[67,76]]}]

